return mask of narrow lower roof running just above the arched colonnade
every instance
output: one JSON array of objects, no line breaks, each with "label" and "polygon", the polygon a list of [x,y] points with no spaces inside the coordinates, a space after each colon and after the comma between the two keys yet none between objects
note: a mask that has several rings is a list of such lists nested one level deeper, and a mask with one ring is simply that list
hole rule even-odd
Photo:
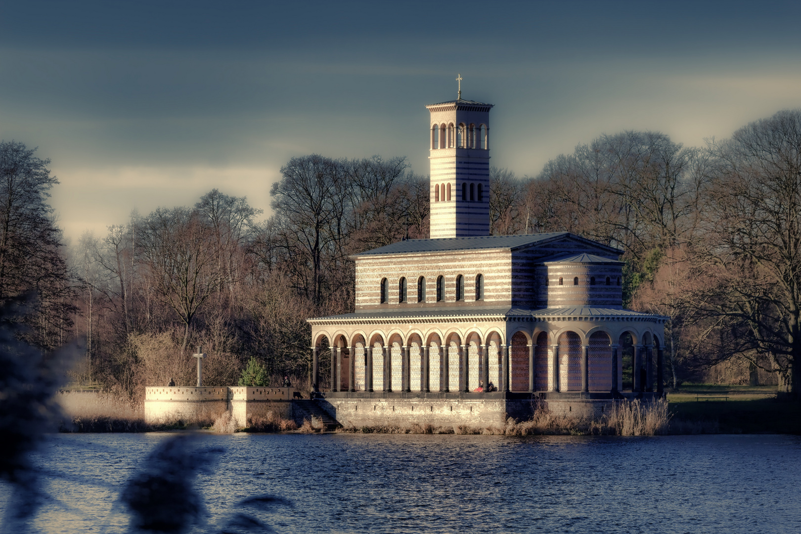
[{"label": "narrow lower roof running just above the arched colonnade", "polygon": [[388,309],[388,310],[368,310],[356,311],[344,315],[329,315],[328,317],[315,317],[307,319],[312,324],[327,323],[348,323],[368,322],[376,320],[407,321],[407,320],[433,320],[433,319],[453,319],[464,321],[465,319],[556,319],[557,317],[608,317],[610,319],[667,319],[662,315],[642,313],[642,311],[624,310],[620,308],[604,307],[549,307],[538,310],[529,310],[521,307],[457,307],[457,308],[438,308],[438,309]]}]

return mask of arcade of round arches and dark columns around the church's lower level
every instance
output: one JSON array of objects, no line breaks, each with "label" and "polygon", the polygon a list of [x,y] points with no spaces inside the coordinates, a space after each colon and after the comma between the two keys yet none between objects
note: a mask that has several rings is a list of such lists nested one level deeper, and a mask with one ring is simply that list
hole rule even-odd
[{"label": "arcade of round arches and dark columns around the church's lower level", "polygon": [[312,386],[320,391],[319,363],[326,358],[331,391],[469,392],[487,383],[499,391],[662,391],[663,344],[652,323],[535,324],[405,333],[315,329]]}]

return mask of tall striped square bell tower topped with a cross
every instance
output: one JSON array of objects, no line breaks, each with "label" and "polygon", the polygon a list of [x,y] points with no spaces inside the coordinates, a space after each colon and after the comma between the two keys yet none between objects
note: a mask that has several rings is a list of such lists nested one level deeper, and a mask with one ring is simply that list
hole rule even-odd
[{"label": "tall striped square bell tower topped with a cross", "polygon": [[435,238],[489,235],[489,110],[458,98],[429,110],[431,226]]}]

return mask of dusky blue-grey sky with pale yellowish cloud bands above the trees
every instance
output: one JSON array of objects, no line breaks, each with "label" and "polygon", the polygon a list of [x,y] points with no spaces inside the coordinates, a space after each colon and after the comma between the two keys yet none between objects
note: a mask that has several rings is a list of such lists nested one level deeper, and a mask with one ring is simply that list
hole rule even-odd
[{"label": "dusky blue-grey sky with pale yellowish cloud bands above the trees", "polygon": [[801,2],[0,1],[0,139],[38,147],[66,242],[212,188],[270,215],[297,155],[406,156],[425,105],[493,103],[492,164],[602,134],[686,146],[801,107]]}]

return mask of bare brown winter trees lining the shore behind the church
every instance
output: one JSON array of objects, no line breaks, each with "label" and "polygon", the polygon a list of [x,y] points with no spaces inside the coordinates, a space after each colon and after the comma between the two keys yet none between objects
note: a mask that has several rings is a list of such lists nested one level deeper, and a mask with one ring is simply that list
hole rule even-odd
[{"label": "bare brown winter trees lining the shore behind the church", "polygon": [[[496,235],[571,231],[620,247],[624,303],[670,316],[666,379],[747,362],[799,391],[801,111],[682,147],[658,132],[602,135],[533,176],[490,171]],[[236,383],[245,363],[304,379],[312,316],[352,311],[349,255],[427,238],[429,179],[405,158],[292,158],[272,215],[213,190],[192,207],[131,214],[62,246],[56,182],[34,151],[0,145],[0,299],[33,291],[29,337],[83,339],[75,379],[132,398],[142,386]],[[324,372],[321,375],[326,376]]]}]

